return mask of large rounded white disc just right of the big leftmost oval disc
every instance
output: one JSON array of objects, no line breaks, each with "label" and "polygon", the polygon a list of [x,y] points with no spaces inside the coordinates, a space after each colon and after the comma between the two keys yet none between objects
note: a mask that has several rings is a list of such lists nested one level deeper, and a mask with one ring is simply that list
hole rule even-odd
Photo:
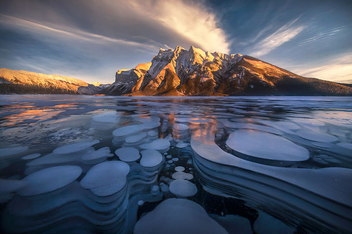
[{"label": "large rounded white disc just right of the big leftmost oval disc", "polygon": [[125,187],[128,172],[130,166],[125,162],[102,162],[90,168],[80,185],[96,196],[109,196]]}]

